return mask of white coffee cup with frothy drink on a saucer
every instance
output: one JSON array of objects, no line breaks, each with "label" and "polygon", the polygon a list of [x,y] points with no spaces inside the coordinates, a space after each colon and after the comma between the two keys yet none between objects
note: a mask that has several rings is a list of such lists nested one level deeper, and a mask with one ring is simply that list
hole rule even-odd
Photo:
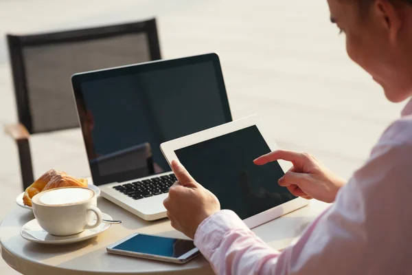
[{"label": "white coffee cup with frothy drink on a saucer", "polygon": [[[89,188],[67,187],[40,192],[32,198],[34,217],[49,234],[68,236],[96,228],[102,212],[96,205],[96,192]],[[98,220],[91,223],[94,212]]]}]

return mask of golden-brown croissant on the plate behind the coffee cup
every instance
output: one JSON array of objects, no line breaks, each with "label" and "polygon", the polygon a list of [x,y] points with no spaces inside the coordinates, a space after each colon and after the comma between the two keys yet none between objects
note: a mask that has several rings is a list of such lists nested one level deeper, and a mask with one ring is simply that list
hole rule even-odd
[{"label": "golden-brown croissant on the plate behind the coffee cup", "polygon": [[87,179],[76,179],[59,170],[49,170],[27,187],[23,195],[23,203],[32,206],[32,197],[39,192],[69,186],[87,187]]}]

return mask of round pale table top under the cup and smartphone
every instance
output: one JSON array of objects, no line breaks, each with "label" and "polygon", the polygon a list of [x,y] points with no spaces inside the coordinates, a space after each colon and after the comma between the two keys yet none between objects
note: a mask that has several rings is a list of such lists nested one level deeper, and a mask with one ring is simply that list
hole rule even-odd
[{"label": "round pale table top under the cup and smartphone", "polygon": [[[98,199],[98,207],[123,223],[112,225],[106,232],[81,243],[42,245],[26,241],[20,236],[21,227],[34,219],[34,215],[32,211],[16,206],[0,225],[1,256],[14,270],[27,275],[213,274],[203,256],[184,265],[176,265],[108,254],[107,245],[135,232],[180,238],[184,236],[170,226],[168,219],[144,221],[102,197]],[[253,231],[273,248],[283,249],[327,207],[327,203],[311,201],[309,206]]]}]

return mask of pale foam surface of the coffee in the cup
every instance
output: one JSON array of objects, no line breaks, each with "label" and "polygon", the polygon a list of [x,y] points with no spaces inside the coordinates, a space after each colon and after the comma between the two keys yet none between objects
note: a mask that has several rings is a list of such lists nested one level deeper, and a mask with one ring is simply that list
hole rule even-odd
[{"label": "pale foam surface of the coffee in the cup", "polygon": [[46,206],[64,206],[91,199],[93,190],[87,188],[61,188],[36,195],[36,201]]}]

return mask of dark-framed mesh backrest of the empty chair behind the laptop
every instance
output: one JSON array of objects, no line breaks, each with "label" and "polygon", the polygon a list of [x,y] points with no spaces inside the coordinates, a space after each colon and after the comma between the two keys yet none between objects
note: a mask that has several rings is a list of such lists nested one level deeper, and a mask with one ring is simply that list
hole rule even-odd
[{"label": "dark-framed mesh backrest of the empty chair behind the laptop", "polygon": [[155,19],[7,38],[19,122],[30,133],[80,126],[71,75],[161,58]]}]

